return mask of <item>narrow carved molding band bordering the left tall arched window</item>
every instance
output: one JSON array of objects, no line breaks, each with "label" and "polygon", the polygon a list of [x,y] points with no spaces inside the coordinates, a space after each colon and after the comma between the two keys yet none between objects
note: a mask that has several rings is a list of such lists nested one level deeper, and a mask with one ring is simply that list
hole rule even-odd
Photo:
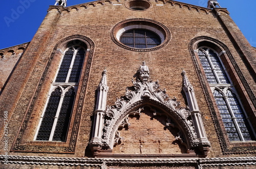
[{"label": "narrow carved molding band bordering the left tall arched window", "polygon": [[[71,138],[70,138],[70,143],[68,144],[68,147],[56,147],[56,146],[27,146],[23,145],[22,142],[26,142],[26,138],[24,137],[24,133],[28,127],[29,120],[31,118],[31,115],[33,114],[33,110],[35,107],[35,104],[37,103],[38,96],[42,90],[42,87],[44,86],[46,77],[48,75],[50,66],[52,65],[52,60],[54,58],[54,55],[57,52],[57,49],[59,46],[63,45],[63,43],[70,42],[72,40],[80,40],[84,43],[87,44],[87,48],[90,49],[88,59],[87,59],[87,64],[85,65],[85,70],[84,74],[81,75],[81,78],[83,78],[83,81],[81,83],[81,91],[80,95],[78,98],[78,106],[75,110],[75,119],[74,119],[74,125],[72,126],[72,133],[71,133]],[[46,63],[46,67],[44,72],[42,73],[42,76],[38,82],[38,86],[36,88],[36,91],[34,92],[34,96],[29,104],[29,107],[27,109],[27,112],[25,113],[24,119],[20,125],[20,128],[14,138],[13,145],[11,147],[10,151],[15,151],[15,152],[45,152],[45,153],[74,153],[75,152],[75,145],[76,145],[76,139],[78,136],[78,129],[79,129],[79,124],[80,124],[80,119],[81,119],[81,112],[82,112],[82,105],[84,102],[84,96],[86,94],[86,89],[87,89],[87,83],[88,83],[88,78],[89,78],[89,72],[91,69],[91,63],[92,63],[92,58],[93,58],[93,53],[94,53],[94,48],[95,45],[93,41],[88,38],[84,37],[82,35],[73,35],[69,36],[66,38],[61,39],[54,47],[53,52]],[[74,110],[73,110],[74,112]],[[31,140],[30,140],[31,141]]]}]

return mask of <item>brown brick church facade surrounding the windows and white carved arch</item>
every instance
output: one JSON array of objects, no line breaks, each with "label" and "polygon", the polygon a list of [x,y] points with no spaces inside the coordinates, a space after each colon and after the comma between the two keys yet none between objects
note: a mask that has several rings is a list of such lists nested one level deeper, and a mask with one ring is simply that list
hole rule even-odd
[{"label": "brown brick church facade surrounding the windows and white carved arch", "polygon": [[[6,136],[1,132],[0,143],[8,150],[1,149],[0,152],[10,157],[8,165],[2,164],[7,168],[229,168],[230,165],[233,168],[253,168],[256,163],[255,141],[229,142],[214,96],[194,51],[202,42],[225,50],[221,59],[250,121],[255,121],[256,51],[239,31],[228,11],[176,1],[149,1],[148,9],[136,11],[129,9],[131,5],[126,3],[121,0],[96,1],[71,7],[50,6],[32,41],[22,44],[26,48],[22,57],[11,59],[15,58],[15,54],[8,55],[12,48],[0,50],[0,64],[9,65],[0,72],[0,87],[5,85],[0,96],[1,124],[5,122],[4,112],[8,112],[8,142],[4,142]],[[122,26],[120,23],[127,21],[129,25],[138,20],[146,26],[160,29],[165,36],[162,46],[137,50],[117,42],[115,38],[118,26]],[[33,140],[34,135],[56,76],[61,51],[65,51],[68,42],[85,44],[88,51],[67,140],[38,142]],[[19,50],[20,46],[13,48]],[[19,53],[13,52],[16,55]],[[177,133],[186,133],[184,128],[168,128],[165,116],[153,116],[152,109],[164,112],[167,111],[165,107],[145,101],[127,110],[134,111],[144,106],[140,116],[129,115],[130,125],[118,128],[122,137],[118,144],[113,149],[103,147],[100,150],[103,154],[99,153],[102,158],[94,156],[89,142],[95,120],[96,90],[102,71],[107,70],[109,90],[106,104],[111,107],[115,105],[116,98],[127,99],[124,97],[126,88],[133,88],[131,79],[135,80],[142,61],[150,69],[151,80],[158,80],[161,91],[166,91],[169,99],[175,97],[180,102],[177,112],[179,108],[187,107],[181,75],[182,70],[186,71],[194,87],[210,143],[207,155],[203,155],[200,148],[189,146],[188,136],[183,136],[186,138],[183,143],[178,139]],[[181,126],[177,124],[178,120],[173,120]],[[252,123],[252,127],[255,129],[255,124]],[[4,129],[2,125],[1,131]],[[115,160],[108,158],[108,154]],[[241,160],[238,159],[240,157]],[[156,161],[155,164],[152,161]]]}]

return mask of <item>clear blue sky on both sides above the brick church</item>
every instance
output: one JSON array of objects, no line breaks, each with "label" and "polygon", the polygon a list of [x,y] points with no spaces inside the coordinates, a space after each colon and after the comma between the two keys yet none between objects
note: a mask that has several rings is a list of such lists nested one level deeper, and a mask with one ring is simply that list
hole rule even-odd
[{"label": "clear blue sky on both sides above the brick church", "polygon": [[[154,1],[154,0],[151,0]],[[90,2],[88,0],[68,0],[68,6]],[[180,0],[180,2],[206,7],[207,0]],[[256,47],[256,1],[218,0],[222,8],[227,8],[249,43]],[[49,5],[55,0],[1,0],[0,5],[0,49],[31,41]]]}]

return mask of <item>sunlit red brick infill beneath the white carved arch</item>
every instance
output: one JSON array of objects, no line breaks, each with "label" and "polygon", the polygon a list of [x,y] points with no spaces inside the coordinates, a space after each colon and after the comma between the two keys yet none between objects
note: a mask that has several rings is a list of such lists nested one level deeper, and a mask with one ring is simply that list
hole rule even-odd
[{"label": "sunlit red brick infill beneath the white carved arch", "polygon": [[166,116],[154,116],[145,107],[141,116],[130,115],[130,126],[120,128],[123,139],[113,149],[118,154],[182,154],[186,147],[176,140],[179,129],[166,127]]}]

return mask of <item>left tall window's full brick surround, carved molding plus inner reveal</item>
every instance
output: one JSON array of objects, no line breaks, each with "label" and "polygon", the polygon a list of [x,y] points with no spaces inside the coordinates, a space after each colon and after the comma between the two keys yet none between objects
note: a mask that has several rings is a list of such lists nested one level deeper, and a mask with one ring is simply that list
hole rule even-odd
[{"label": "left tall window's full brick surround, carved molding plus inner reveal", "polygon": [[[68,45],[69,42],[81,42],[86,44],[87,46],[87,52],[86,52],[86,58],[84,59],[84,67],[81,74],[81,79],[79,83],[79,87],[77,90],[76,98],[75,98],[75,104],[73,108],[73,115],[72,115],[72,121],[71,125],[68,129],[68,137],[66,142],[49,142],[49,141],[34,141],[34,134],[31,133],[31,136],[28,138],[28,133],[31,132],[31,128],[33,128],[31,125],[32,123],[36,123],[36,125],[39,122],[40,118],[40,112],[36,110],[38,104],[41,100],[41,96],[44,95],[45,92],[49,92],[51,82],[49,82],[49,76],[51,73],[51,70],[53,67],[56,66],[57,63],[59,63],[59,59],[56,59],[60,57],[61,50],[65,50],[65,45]],[[46,63],[45,69],[41,75],[41,78],[38,81],[38,85],[34,91],[34,95],[31,98],[31,101],[28,105],[28,108],[25,112],[24,118],[22,120],[22,124],[19,127],[19,130],[14,138],[13,144],[11,146],[10,152],[37,152],[37,153],[64,153],[64,154],[74,154],[75,148],[76,148],[76,142],[78,138],[78,128],[80,125],[81,120],[81,114],[82,114],[82,105],[84,104],[84,98],[87,91],[88,86],[88,80],[89,80],[89,72],[92,65],[92,59],[94,55],[95,50],[95,44],[94,42],[82,35],[72,35],[63,39],[60,39],[55,47],[52,49],[52,54],[49,56],[48,61]],[[57,63],[56,63],[57,62]],[[48,90],[46,90],[46,86],[48,86]],[[46,93],[46,94],[47,94]],[[45,104],[43,105],[45,106]],[[38,121],[30,121],[29,119],[38,117]]]}]

